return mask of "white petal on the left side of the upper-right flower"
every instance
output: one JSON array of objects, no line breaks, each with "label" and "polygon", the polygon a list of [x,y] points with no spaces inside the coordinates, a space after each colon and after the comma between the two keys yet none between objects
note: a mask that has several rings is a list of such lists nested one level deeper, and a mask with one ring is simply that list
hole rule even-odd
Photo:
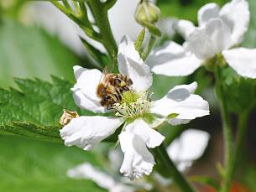
[{"label": "white petal on the left side of the upper-right flower", "polygon": [[191,75],[201,65],[194,54],[173,41],[166,42],[163,47],[155,49],[146,60],[152,71],[158,75],[184,76]]}]

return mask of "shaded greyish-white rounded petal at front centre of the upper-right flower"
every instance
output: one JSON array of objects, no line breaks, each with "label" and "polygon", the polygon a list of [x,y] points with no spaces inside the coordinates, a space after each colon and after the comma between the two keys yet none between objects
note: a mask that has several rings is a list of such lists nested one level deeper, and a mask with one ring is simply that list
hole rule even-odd
[{"label": "shaded greyish-white rounded petal at front centre of the upper-right flower", "polygon": [[211,18],[203,27],[196,29],[188,41],[191,52],[199,59],[207,60],[229,47],[230,31],[220,18]]}]

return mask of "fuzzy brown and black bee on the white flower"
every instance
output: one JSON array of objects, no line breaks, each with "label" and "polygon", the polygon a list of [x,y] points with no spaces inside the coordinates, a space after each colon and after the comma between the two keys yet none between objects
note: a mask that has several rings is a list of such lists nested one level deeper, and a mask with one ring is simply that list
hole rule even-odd
[{"label": "fuzzy brown and black bee on the white flower", "polygon": [[103,70],[102,78],[97,86],[97,96],[102,99],[101,105],[107,109],[112,109],[115,103],[122,101],[124,91],[129,91],[129,86],[133,85],[133,81],[122,74],[107,73]]}]

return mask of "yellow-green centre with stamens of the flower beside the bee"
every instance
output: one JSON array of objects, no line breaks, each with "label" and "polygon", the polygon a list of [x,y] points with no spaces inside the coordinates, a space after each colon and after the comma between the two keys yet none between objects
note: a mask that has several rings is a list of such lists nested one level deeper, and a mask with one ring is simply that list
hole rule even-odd
[{"label": "yellow-green centre with stamens of the flower beside the bee", "polygon": [[133,91],[125,91],[122,101],[115,103],[113,108],[118,111],[117,116],[134,119],[144,116],[149,110],[149,105],[148,92],[137,94]]}]

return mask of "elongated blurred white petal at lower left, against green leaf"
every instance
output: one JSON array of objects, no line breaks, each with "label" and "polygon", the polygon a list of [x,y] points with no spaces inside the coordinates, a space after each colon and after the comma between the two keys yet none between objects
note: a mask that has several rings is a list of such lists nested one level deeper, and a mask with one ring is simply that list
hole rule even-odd
[{"label": "elongated blurred white petal at lower left, against green leaf", "polygon": [[116,182],[112,177],[96,168],[90,163],[82,163],[73,169],[69,169],[67,175],[75,179],[91,179],[104,189],[112,189]]}]

